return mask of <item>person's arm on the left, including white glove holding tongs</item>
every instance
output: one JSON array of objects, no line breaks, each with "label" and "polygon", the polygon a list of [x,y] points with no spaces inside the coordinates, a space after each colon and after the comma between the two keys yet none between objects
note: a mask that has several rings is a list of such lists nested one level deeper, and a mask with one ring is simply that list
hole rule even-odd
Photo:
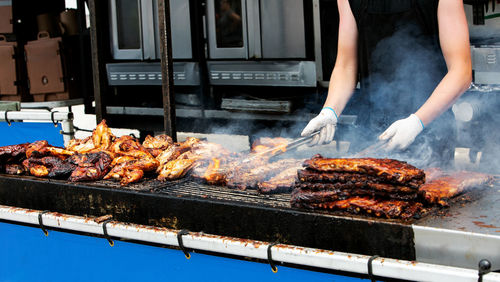
[{"label": "person's arm on the left, including white glove holding tongs", "polygon": [[309,145],[330,143],[335,135],[338,115],[351,98],[357,82],[358,28],[348,0],[337,0],[340,22],[337,60],[330,77],[328,96],[318,116],[313,118],[302,131],[308,136],[319,131]]}]

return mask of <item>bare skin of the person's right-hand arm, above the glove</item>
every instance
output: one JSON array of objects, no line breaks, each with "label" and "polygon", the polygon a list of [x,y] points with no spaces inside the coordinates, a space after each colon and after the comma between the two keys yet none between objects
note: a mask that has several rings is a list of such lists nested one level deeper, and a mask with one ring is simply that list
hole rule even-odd
[{"label": "bare skin of the person's right-hand arm, above the glove", "polygon": [[440,0],[438,24],[448,72],[415,113],[424,125],[446,111],[469,88],[472,80],[469,30],[462,1]]}]

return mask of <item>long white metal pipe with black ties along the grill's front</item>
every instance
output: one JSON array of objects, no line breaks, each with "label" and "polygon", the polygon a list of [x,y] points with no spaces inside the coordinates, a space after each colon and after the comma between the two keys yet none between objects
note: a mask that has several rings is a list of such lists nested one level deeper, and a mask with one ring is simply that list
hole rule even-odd
[{"label": "long white metal pipe with black ties along the grill's front", "polygon": [[[40,212],[0,205],[0,219],[14,222],[38,225],[38,215]],[[89,218],[63,215],[55,212],[44,213],[41,216],[43,217],[45,227],[55,227],[99,235],[104,234],[102,224],[96,223]],[[167,228],[124,224],[120,222],[109,222],[107,224],[107,233],[109,236],[170,246],[178,246],[178,232],[177,230]],[[267,259],[267,248],[270,245],[261,241],[194,232],[183,236],[183,244],[190,249],[257,259]],[[367,262],[370,256],[302,248],[285,244],[275,245],[271,249],[271,252],[275,261],[360,274],[368,273]],[[373,275],[395,279],[477,281],[478,278],[478,271],[473,269],[389,258],[377,258],[373,260],[372,266]],[[486,274],[483,276],[483,281],[500,281],[500,274]]]}]

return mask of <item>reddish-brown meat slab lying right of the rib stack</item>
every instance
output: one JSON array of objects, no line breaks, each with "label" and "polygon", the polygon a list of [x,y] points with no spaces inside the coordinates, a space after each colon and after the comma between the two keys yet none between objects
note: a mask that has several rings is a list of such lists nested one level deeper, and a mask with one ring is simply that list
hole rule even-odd
[{"label": "reddish-brown meat slab lying right of the rib stack", "polygon": [[[436,172],[436,171],[434,171]],[[420,186],[420,193],[430,204],[448,206],[448,200],[472,188],[490,184],[493,177],[484,173],[459,171],[434,175],[432,179]]]}]

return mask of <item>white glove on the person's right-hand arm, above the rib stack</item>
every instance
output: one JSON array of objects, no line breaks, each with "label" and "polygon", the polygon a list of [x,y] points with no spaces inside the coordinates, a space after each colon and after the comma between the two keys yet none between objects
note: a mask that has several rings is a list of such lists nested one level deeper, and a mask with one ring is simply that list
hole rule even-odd
[{"label": "white glove on the person's right-hand arm, above the rib stack", "polygon": [[378,139],[387,141],[387,144],[384,146],[387,151],[394,149],[404,150],[415,141],[415,137],[423,129],[424,124],[422,121],[415,114],[411,114],[409,117],[391,124]]}]

